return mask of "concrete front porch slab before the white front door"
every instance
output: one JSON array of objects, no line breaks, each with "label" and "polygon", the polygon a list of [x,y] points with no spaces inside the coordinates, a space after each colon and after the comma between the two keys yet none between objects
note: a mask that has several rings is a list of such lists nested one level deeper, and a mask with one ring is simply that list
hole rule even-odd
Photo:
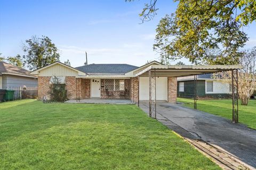
[{"label": "concrete front porch slab before the white front door", "polygon": [[100,99],[100,98],[68,100],[65,103],[135,104],[129,99]]}]

